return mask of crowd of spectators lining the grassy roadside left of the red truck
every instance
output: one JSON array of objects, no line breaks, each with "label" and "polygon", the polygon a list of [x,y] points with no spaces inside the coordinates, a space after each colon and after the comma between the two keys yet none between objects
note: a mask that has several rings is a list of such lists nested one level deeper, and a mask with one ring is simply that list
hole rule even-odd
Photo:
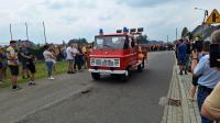
[{"label": "crowd of spectators lining the grassy roadside left of the red truck", "polygon": [[[68,45],[46,44],[38,47],[34,53],[28,42],[18,44],[11,41],[8,46],[0,46],[0,82],[8,79],[7,70],[11,72],[12,89],[21,89],[18,86],[18,77],[28,79],[29,86],[35,86],[36,62],[45,62],[48,79],[53,80],[53,71],[56,70],[56,63],[68,60],[67,74],[75,74],[87,69],[87,57],[91,46],[86,44],[70,43]],[[21,70],[21,74],[20,74]]]}]

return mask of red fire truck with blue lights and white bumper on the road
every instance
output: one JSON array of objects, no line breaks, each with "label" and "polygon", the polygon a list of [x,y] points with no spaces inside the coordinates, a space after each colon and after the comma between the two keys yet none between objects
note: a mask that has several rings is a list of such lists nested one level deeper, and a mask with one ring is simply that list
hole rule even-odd
[{"label": "red fire truck with blue lights and white bumper on the road", "polygon": [[117,33],[100,34],[95,36],[94,49],[88,59],[89,71],[95,80],[101,75],[120,75],[127,81],[132,70],[142,71],[144,68],[145,55],[135,40],[141,35],[143,27]]}]

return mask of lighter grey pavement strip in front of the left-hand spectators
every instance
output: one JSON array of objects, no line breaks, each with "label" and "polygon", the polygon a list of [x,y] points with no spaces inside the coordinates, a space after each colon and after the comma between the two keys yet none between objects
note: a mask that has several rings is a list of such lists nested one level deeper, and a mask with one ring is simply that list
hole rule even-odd
[{"label": "lighter grey pavement strip in front of the left-hand spectators", "polygon": [[[59,75],[55,80],[42,79],[35,87],[22,85],[22,90],[0,90],[0,123],[14,123],[36,111],[59,103],[91,89],[87,71]],[[89,81],[89,82],[88,82]]]}]

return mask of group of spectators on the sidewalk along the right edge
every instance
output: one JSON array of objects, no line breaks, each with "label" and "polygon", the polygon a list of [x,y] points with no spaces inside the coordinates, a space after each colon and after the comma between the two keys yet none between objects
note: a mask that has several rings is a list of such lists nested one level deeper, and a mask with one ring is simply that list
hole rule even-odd
[{"label": "group of spectators on the sidewalk along the right edge", "polygon": [[[210,67],[211,44],[220,45],[220,30],[212,33],[211,41],[200,41],[198,37],[190,40],[186,36],[176,44],[179,75],[184,76],[184,71],[186,75],[187,71],[193,72],[190,100],[195,101],[197,90],[201,123],[220,120],[220,68]],[[220,64],[220,59],[216,62]]]}]

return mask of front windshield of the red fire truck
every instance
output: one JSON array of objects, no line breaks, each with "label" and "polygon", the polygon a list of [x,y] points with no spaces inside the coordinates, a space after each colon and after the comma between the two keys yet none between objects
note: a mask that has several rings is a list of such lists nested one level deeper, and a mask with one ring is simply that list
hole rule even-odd
[{"label": "front windshield of the red fire truck", "polygon": [[123,49],[125,36],[96,37],[94,49]]}]

